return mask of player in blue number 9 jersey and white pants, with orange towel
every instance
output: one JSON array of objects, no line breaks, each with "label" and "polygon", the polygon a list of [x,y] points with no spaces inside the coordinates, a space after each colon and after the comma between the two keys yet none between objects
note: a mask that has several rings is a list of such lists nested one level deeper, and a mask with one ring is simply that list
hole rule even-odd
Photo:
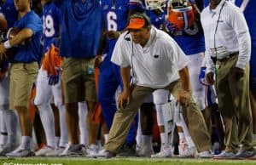
[{"label": "player in blue number 9 jersey and white pants, with orange towel", "polygon": [[[50,49],[58,47],[58,40],[60,37],[60,23],[61,11],[55,6],[52,0],[42,0],[43,6],[43,42],[44,54],[50,52]],[[53,44],[53,45],[52,45]],[[50,55],[50,54],[47,54]],[[57,54],[58,55],[58,54]],[[46,60],[45,57],[44,61]],[[61,94],[61,81],[60,81],[60,66],[55,65],[51,61],[43,62],[37,78],[37,94],[34,104],[38,106],[38,111],[44,126],[46,134],[47,145],[36,152],[36,156],[57,156],[64,150],[68,142],[67,139],[67,125],[65,120],[65,105],[62,100]],[[46,69],[46,65],[53,65],[57,70],[56,75]],[[50,103],[54,99],[55,106],[59,109],[60,126],[61,126],[61,139],[55,139],[55,118]],[[56,145],[55,140],[59,141]],[[56,150],[55,150],[56,149]]]}]

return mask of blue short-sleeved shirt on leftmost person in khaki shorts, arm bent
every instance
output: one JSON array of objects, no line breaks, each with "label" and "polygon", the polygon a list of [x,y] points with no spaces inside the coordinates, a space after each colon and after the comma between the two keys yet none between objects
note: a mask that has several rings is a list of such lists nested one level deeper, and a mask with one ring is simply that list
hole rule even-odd
[{"label": "blue short-sleeved shirt on leftmost person in khaki shorts, arm bent", "polygon": [[14,27],[20,30],[29,28],[33,31],[33,35],[25,44],[16,46],[17,52],[12,62],[30,63],[39,61],[41,57],[40,38],[42,36],[43,26],[38,14],[35,14],[33,11],[28,12],[20,20],[15,22]]}]

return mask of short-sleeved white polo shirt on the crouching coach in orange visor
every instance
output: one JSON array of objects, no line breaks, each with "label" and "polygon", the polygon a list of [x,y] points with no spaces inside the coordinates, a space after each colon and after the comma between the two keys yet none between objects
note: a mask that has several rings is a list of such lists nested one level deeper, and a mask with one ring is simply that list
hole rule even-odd
[{"label": "short-sleeved white polo shirt on the crouching coach in orange visor", "polygon": [[136,84],[150,88],[164,88],[179,79],[178,71],[189,64],[189,59],[166,32],[151,27],[150,38],[144,48],[126,41],[126,32],[113,49],[112,62],[120,67],[131,66]]}]

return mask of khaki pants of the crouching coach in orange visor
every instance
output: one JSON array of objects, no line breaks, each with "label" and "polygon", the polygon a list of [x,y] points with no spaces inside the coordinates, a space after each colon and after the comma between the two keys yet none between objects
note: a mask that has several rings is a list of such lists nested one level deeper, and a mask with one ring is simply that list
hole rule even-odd
[{"label": "khaki pants of the crouching coach in orange visor", "polygon": [[[165,89],[169,90],[175,98],[181,90],[181,83],[179,81],[173,82]],[[142,86],[134,86],[131,89],[130,104],[124,109],[116,111],[113,118],[113,125],[109,132],[108,143],[104,148],[108,151],[117,153],[121,145],[124,144],[126,135],[133,122],[134,117],[140,105],[143,104],[144,99],[154,92],[154,88],[147,88]],[[189,106],[183,107],[183,117],[188,124],[189,133],[195,142],[198,151],[206,151],[211,149],[210,135],[207,131],[206,123],[203,120],[201,111],[198,110],[194,100],[189,101]]]}]

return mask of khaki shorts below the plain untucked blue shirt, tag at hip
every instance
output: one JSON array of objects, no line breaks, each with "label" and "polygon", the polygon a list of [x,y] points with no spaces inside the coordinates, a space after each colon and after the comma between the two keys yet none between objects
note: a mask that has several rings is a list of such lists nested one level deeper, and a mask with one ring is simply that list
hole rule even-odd
[{"label": "khaki shorts below the plain untucked blue shirt, tag at hip", "polygon": [[95,58],[63,60],[61,77],[65,103],[96,101],[94,64]]}]

